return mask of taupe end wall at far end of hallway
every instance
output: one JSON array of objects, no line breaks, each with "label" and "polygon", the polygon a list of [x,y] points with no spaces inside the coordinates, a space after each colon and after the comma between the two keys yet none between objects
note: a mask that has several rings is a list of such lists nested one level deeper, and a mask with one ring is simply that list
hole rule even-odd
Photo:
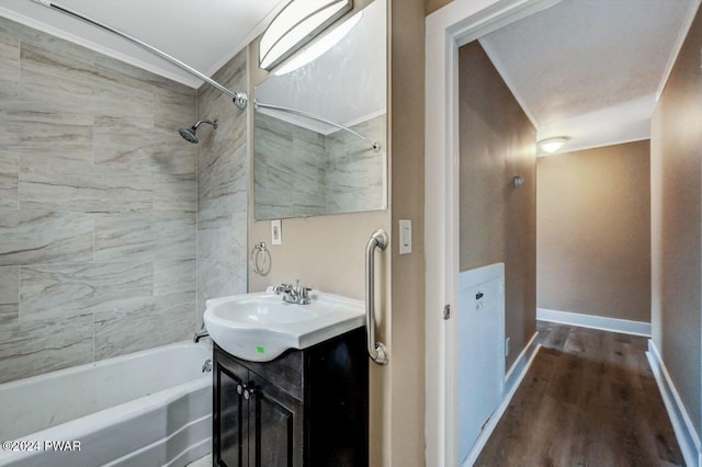
[{"label": "taupe end wall at far end of hallway", "polygon": [[537,307],[650,322],[650,149],[539,158]]}]

